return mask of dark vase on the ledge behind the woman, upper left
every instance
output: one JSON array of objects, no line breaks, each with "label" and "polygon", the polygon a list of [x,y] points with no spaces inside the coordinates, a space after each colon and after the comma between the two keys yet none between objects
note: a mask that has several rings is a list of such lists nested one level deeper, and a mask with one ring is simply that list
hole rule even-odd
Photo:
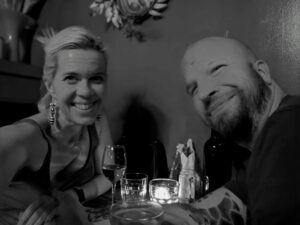
[{"label": "dark vase on the ledge behind the woman, upper left", "polygon": [[0,9],[0,37],[3,38],[3,58],[9,61],[30,63],[32,39],[37,23],[31,17]]}]

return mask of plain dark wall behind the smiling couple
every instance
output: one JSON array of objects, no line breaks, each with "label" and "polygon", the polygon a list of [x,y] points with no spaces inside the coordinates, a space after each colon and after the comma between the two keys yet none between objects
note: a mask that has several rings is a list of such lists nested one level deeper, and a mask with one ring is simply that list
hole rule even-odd
[{"label": "plain dark wall behind the smiling couple", "polygon": [[[187,45],[204,36],[227,34],[243,40],[269,63],[274,79],[288,93],[300,94],[299,0],[171,0],[163,19],[140,27],[148,39],[144,43],[105,29],[103,16],[89,16],[90,3],[48,0],[39,29],[83,25],[102,36],[109,53],[106,105],[115,141],[127,124],[132,135],[158,137],[169,164],[177,143],[189,137],[202,152],[209,130],[185,93],[180,60]],[[32,64],[41,66],[41,56],[41,46],[34,42]]]}]

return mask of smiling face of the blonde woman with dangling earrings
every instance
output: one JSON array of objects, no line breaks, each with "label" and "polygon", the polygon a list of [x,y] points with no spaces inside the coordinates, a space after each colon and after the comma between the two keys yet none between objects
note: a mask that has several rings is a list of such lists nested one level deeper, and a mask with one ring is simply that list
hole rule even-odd
[{"label": "smiling face of the blonde woman with dangling earrings", "polygon": [[58,108],[58,121],[65,125],[89,125],[99,114],[106,83],[103,54],[91,49],[63,50],[48,87]]}]

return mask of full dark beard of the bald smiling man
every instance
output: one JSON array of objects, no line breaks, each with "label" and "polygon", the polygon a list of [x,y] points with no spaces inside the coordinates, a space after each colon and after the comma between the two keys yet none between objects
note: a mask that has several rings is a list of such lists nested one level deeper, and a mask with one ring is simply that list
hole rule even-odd
[{"label": "full dark beard of the bald smiling man", "polygon": [[266,110],[271,90],[258,74],[254,76],[256,76],[254,78],[256,82],[248,94],[243,90],[238,90],[240,104],[237,112],[230,118],[223,115],[216,121],[212,121],[212,128],[227,140],[251,141],[258,125],[256,118]]}]

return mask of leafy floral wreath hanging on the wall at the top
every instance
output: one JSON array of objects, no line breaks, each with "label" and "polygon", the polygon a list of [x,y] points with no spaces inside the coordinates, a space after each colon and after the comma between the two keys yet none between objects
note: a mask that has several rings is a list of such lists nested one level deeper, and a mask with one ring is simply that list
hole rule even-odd
[{"label": "leafy floral wreath hanging on the wall at the top", "polygon": [[146,19],[161,18],[168,0],[93,0],[90,5],[92,16],[104,14],[106,22],[123,30],[127,37],[144,41],[144,35],[135,25]]}]

